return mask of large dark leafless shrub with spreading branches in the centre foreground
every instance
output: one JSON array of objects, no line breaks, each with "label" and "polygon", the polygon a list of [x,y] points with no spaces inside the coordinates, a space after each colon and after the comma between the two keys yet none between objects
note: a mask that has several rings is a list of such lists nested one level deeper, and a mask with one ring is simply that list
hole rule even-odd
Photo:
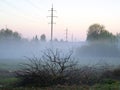
[{"label": "large dark leafless shrub with spreading branches in the centre foreground", "polygon": [[41,58],[28,58],[29,63],[22,64],[17,71],[22,86],[49,86],[69,83],[71,72],[74,72],[77,62],[72,59],[72,52],[63,54],[59,50],[43,52]]}]

